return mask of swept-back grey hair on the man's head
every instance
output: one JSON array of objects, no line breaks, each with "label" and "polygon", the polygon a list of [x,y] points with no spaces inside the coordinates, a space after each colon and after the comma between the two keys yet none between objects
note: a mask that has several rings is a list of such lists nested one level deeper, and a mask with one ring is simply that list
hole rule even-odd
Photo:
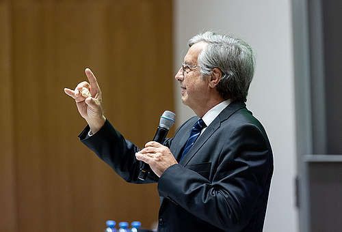
[{"label": "swept-back grey hair on the man's head", "polygon": [[216,89],[220,96],[224,100],[231,98],[246,102],[254,76],[254,50],[244,40],[215,31],[195,35],[188,44],[191,47],[198,42],[207,43],[198,55],[202,77],[211,74],[213,68],[219,68],[222,78]]}]

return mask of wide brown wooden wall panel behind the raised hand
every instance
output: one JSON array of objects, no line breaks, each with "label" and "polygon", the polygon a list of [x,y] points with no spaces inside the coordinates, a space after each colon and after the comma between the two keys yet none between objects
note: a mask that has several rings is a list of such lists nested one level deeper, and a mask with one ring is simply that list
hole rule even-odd
[{"label": "wide brown wooden wall panel behind the raised hand", "polygon": [[6,10],[12,102],[1,112],[12,108],[8,190],[18,231],[101,231],[108,219],[149,227],[157,185],[125,183],[78,141],[86,122],[63,89],[91,68],[106,117],[137,145],[150,141],[173,110],[172,1],[11,1]]}]

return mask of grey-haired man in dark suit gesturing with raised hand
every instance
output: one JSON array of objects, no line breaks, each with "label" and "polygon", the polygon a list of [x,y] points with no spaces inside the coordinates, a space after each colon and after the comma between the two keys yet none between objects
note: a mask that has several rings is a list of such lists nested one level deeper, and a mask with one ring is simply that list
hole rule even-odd
[{"label": "grey-haired man in dark suit gesturing with raised hand", "polygon": [[[158,231],[255,232],[263,231],[273,158],[263,126],[244,103],[253,74],[254,53],[243,40],[211,31],[194,36],[175,78],[197,116],[163,145],[152,141],[142,150],[105,119],[89,69],[90,84],[65,92],[88,122],[79,138],[118,175],[142,184],[140,166],[150,165],[155,175],[145,182],[158,182],[161,197]],[[81,96],[82,87],[92,97]]]}]

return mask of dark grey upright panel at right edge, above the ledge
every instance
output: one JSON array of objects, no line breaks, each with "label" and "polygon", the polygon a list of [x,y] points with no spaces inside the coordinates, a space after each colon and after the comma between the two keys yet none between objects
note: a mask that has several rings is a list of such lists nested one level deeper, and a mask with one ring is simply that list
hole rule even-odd
[{"label": "dark grey upright panel at right edge, above the ledge", "polygon": [[321,1],[321,4],[326,83],[326,154],[342,154],[342,1]]}]

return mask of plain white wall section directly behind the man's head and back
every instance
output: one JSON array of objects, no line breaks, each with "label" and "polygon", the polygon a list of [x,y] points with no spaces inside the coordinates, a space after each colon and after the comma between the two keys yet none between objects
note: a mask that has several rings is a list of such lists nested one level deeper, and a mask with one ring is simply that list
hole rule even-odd
[{"label": "plain white wall section directly behind the man's head and back", "polygon": [[[274,177],[265,232],[299,231],[295,207],[295,102],[291,0],[174,0],[174,73],[187,40],[210,29],[232,33],[257,52],[247,106],[261,121],[274,151]],[[177,124],[194,113],[174,82]]]}]

